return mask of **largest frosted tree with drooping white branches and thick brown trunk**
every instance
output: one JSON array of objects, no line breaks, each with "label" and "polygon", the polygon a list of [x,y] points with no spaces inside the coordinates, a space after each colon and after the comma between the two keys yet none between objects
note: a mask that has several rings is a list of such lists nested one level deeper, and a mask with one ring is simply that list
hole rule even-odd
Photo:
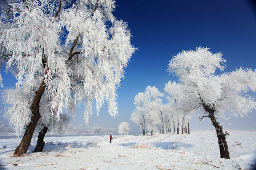
[{"label": "largest frosted tree with drooping white branches and thick brown trunk", "polygon": [[[43,95],[56,119],[76,103],[85,105],[86,122],[94,102],[97,114],[105,101],[110,115],[118,114],[116,89],[136,49],[130,44],[127,24],[112,14],[115,1],[5,0],[4,4],[8,8],[0,9],[1,57],[7,60],[6,70],[17,77],[16,88],[27,95],[33,90],[32,102],[20,103],[26,112],[13,110],[8,115],[20,131],[26,127],[15,155],[27,152],[43,116],[39,110]],[[14,122],[17,116],[22,121]]]}]

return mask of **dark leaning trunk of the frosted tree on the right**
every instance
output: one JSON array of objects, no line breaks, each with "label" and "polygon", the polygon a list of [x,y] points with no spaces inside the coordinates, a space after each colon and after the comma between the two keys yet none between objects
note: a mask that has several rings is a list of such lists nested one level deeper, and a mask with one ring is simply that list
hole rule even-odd
[{"label": "dark leaning trunk of the frosted tree on the right", "polygon": [[214,116],[214,112],[211,112],[209,114],[209,117],[210,117],[210,120],[211,120],[213,126],[216,129],[218,143],[219,143],[220,158],[230,159],[229,147],[226,142],[226,134],[223,133],[223,127],[221,125],[219,125],[219,122],[217,122],[217,120]]}]

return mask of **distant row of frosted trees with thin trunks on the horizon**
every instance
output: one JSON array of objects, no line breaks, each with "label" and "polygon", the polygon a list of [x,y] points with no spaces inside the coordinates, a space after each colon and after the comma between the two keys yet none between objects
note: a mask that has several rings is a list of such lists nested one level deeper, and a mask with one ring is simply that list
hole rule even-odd
[{"label": "distant row of frosted trees with thin trunks on the horizon", "polygon": [[179,134],[180,127],[182,134],[190,133],[189,114],[180,107],[179,103],[181,96],[178,94],[182,93],[176,91],[175,98],[170,96],[174,93],[173,88],[176,85],[175,82],[168,82],[165,85],[165,93],[167,93],[165,96],[169,101],[167,104],[162,102],[164,93],[159,92],[155,86],[147,86],[145,92],[140,92],[135,96],[135,109],[130,119],[140,127],[142,135],[145,135],[146,129],[149,130],[150,135],[153,135],[154,131],[160,134],[172,132],[172,126],[174,133],[177,128],[177,134]]}]

